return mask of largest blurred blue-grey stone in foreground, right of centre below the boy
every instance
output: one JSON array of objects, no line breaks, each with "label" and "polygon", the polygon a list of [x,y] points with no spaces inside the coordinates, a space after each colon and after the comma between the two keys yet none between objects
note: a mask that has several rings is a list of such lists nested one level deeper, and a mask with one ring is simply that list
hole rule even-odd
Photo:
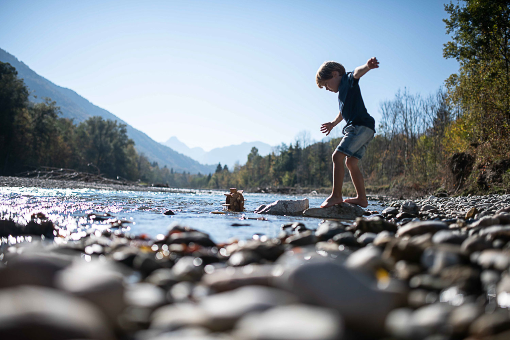
[{"label": "largest blurred blue-grey stone in foreground, right of centre below the boy", "polygon": [[326,260],[304,260],[274,277],[302,302],[337,309],[349,328],[372,335],[380,335],[388,313],[405,302],[405,289],[388,283],[378,289],[370,276]]}]

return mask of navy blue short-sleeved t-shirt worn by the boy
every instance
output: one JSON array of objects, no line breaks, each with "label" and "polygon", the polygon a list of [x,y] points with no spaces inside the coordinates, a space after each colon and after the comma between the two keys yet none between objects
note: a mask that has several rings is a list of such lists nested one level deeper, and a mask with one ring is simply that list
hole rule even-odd
[{"label": "navy blue short-sleeved t-shirt worn by the boy", "polygon": [[[354,78],[354,72],[347,72],[342,76],[338,86],[338,103],[340,112],[347,125],[363,125],[375,132],[375,120],[367,112],[361,97],[359,79]],[[344,130],[345,130],[344,127]],[[345,134],[345,132],[343,132]]]}]

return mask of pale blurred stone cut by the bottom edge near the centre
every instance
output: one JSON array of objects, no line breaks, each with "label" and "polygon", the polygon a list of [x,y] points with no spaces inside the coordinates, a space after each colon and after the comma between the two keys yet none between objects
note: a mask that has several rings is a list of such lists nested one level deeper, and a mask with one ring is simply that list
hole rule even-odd
[{"label": "pale blurred stone cut by the bottom edge near the centre", "polygon": [[241,319],[234,330],[240,340],[338,340],[342,317],[336,310],[308,305],[270,309]]}]

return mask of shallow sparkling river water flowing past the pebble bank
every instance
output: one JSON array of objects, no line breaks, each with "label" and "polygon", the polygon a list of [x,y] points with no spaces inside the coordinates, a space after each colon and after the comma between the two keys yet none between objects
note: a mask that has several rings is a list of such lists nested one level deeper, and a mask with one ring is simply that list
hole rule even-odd
[{"label": "shallow sparkling river water flowing past the pebble bank", "polygon": [[[258,215],[251,213],[261,204],[269,204],[278,199],[310,200],[310,207],[318,207],[324,200],[322,196],[244,194],[245,212],[210,214],[222,211],[225,192],[205,190],[183,190],[181,193],[110,191],[95,189],[42,189],[0,187],[0,219],[13,219],[25,224],[34,213],[43,213],[53,221],[62,232],[82,233],[89,228],[106,229],[117,220],[123,230],[135,234],[148,234],[156,237],[166,233],[172,224],[189,226],[210,234],[215,242],[224,242],[230,238],[249,239],[253,234],[277,235],[281,225],[288,222],[302,222],[308,228],[315,229],[320,219],[309,217],[288,217]],[[377,201],[369,201],[369,210],[380,211]],[[175,215],[163,215],[172,210]],[[99,220],[91,219],[89,214],[109,214]],[[265,217],[267,220],[250,218]],[[129,223],[127,223],[129,222]],[[233,224],[241,224],[233,226]]]}]

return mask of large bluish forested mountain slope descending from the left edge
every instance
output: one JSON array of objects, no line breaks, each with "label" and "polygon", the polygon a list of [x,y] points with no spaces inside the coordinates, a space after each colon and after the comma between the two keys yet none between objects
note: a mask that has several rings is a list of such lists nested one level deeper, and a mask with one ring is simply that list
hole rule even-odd
[{"label": "large bluish forested mountain slope descending from the left edge", "polygon": [[174,171],[179,172],[188,171],[207,174],[214,172],[216,169],[215,166],[202,165],[188,156],[152,140],[140,130],[105,109],[95,106],[78,93],[48,81],[2,48],[0,48],[0,61],[9,63],[16,68],[18,77],[24,80],[25,85],[31,92],[31,101],[41,102],[44,97],[52,98],[60,107],[62,116],[74,119],[74,123],[83,122],[91,116],[101,116],[104,119],[116,120],[119,123],[126,124],[127,135],[135,141],[135,148],[139,153],[145,154],[150,162],[158,162],[160,167],[166,165],[168,168],[173,168]]}]

